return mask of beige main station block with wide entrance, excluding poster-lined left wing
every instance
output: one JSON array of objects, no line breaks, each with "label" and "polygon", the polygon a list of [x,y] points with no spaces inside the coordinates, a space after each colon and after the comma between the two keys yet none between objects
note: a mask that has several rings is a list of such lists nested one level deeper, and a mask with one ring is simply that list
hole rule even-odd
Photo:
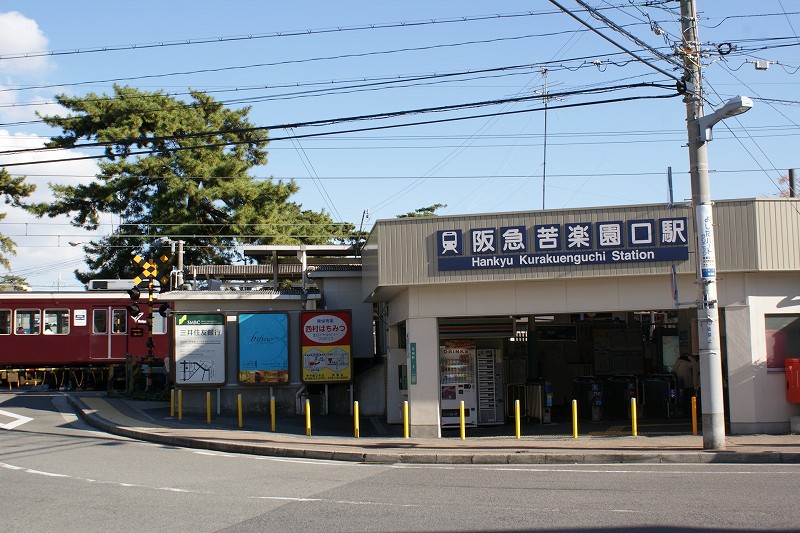
[{"label": "beige main station block with wide entrance, excluding poster-lined left wing", "polygon": [[[788,432],[800,202],[719,201],[714,220],[729,431]],[[408,401],[412,436],[441,436],[461,400],[476,425],[515,400],[542,421],[575,398],[586,417],[625,418],[634,395],[645,417],[687,415],[694,384],[672,371],[698,355],[688,204],[380,220],[362,254],[388,331],[387,419]]]}]

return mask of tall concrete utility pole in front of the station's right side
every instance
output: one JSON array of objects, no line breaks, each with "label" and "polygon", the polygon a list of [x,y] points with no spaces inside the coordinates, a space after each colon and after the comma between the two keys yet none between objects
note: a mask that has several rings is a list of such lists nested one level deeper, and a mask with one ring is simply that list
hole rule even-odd
[{"label": "tall concrete utility pole in front of the station's right side", "polygon": [[681,30],[686,84],[686,127],[689,135],[689,171],[697,236],[697,335],[702,393],[703,448],[725,448],[725,406],[722,396],[722,353],[717,307],[714,217],[708,179],[707,143],[700,138],[703,117],[700,43],[695,0],[681,0]]}]

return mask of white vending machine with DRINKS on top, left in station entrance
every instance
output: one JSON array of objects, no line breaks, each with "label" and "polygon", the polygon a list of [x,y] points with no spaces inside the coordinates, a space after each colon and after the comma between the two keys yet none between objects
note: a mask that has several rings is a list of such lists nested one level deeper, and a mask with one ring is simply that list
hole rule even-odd
[{"label": "white vending machine with DRINKS on top, left in station entrance", "polygon": [[442,426],[461,424],[462,401],[464,424],[472,427],[477,425],[475,353],[475,343],[472,341],[447,341],[439,348]]}]

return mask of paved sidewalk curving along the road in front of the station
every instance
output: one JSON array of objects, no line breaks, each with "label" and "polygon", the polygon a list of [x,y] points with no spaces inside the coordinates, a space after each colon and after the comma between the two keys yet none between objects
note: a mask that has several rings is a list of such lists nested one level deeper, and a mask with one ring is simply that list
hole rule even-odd
[{"label": "paved sidewalk curving along the road in front of the station", "polygon": [[[361,420],[355,438],[349,417],[312,418],[312,434],[305,434],[302,416],[281,417],[276,432],[268,419],[248,415],[238,420],[219,417],[207,424],[196,416],[177,420],[169,404],[105,394],[71,393],[70,403],[89,424],[116,435],[172,446],[275,457],[327,459],[366,463],[438,464],[598,464],[598,463],[800,463],[800,435],[728,436],[723,451],[703,450],[701,435],[664,432],[632,436],[630,426],[605,426],[602,432],[580,432],[548,427],[548,434],[522,438],[513,428],[443,431],[443,438],[403,438],[402,428],[375,420]],[[622,422],[622,421],[621,421]],[[566,429],[564,435],[554,430]],[[528,430],[528,432],[526,432]],[[508,432],[511,432],[508,435]],[[585,431],[585,430],[584,430]],[[479,436],[480,435],[480,436]]]}]

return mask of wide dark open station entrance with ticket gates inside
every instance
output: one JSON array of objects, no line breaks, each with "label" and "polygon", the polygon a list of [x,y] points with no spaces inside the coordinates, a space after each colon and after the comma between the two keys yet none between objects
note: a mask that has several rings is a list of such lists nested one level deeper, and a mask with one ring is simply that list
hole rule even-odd
[{"label": "wide dark open station entrance with ticket gates inside", "polygon": [[[687,310],[439,319],[442,428],[579,420],[661,425],[699,410],[695,313]],[[724,321],[723,321],[724,331]],[[723,342],[724,345],[724,342]],[[724,353],[723,353],[724,361]]]}]

